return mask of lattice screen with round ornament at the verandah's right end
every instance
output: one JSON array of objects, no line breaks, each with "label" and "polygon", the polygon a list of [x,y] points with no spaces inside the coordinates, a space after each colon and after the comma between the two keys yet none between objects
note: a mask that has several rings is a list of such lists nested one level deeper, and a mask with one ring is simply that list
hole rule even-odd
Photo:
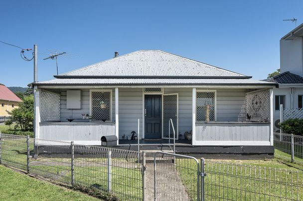
[{"label": "lattice screen with round ornament at the verandah's right end", "polygon": [[270,93],[268,89],[247,93],[245,104],[247,122],[270,122]]}]

